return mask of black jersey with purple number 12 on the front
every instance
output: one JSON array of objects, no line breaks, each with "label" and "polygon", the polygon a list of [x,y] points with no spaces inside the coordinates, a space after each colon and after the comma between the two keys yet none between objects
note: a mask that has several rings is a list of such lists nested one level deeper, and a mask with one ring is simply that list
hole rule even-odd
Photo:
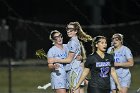
[{"label": "black jersey with purple number 12 on the front", "polygon": [[110,71],[113,66],[114,58],[110,54],[105,53],[104,58],[97,53],[88,56],[85,68],[89,68],[91,72],[90,86],[110,89]]}]

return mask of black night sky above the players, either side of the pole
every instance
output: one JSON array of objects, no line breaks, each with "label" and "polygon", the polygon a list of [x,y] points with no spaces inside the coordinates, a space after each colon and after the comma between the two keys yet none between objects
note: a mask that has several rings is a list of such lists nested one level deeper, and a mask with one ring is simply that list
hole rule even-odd
[{"label": "black night sky above the players, either side of the pole", "polygon": [[[0,0],[0,10],[1,17],[14,16],[52,23],[78,20],[82,24],[91,24],[93,5],[88,1],[103,0]],[[140,20],[139,0],[104,1],[102,18],[107,23]]]}]

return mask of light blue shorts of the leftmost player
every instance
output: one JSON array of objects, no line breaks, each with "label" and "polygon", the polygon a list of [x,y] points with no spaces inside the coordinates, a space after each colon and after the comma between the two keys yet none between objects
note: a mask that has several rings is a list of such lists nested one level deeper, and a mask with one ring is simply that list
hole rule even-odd
[{"label": "light blue shorts of the leftmost player", "polygon": [[63,67],[51,72],[52,89],[67,88],[67,73]]}]

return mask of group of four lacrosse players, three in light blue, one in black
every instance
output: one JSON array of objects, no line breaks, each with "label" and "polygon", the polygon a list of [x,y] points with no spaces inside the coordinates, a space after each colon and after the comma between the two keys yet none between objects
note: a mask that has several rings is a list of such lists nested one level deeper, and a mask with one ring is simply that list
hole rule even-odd
[{"label": "group of four lacrosse players, three in light blue, one in black", "polygon": [[[53,46],[47,58],[52,89],[56,93],[84,93],[82,88],[87,85],[87,93],[127,93],[131,83],[129,67],[134,61],[130,49],[123,45],[123,35],[114,34],[112,46],[107,49],[106,37],[92,38],[78,22],[70,22],[66,31],[70,37],[67,44],[63,44],[59,31],[50,33]],[[88,41],[92,42],[92,54],[86,57],[82,42]]]}]

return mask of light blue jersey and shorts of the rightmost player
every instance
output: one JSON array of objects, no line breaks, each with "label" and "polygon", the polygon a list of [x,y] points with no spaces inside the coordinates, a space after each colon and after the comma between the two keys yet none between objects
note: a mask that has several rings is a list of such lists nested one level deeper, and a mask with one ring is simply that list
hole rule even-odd
[{"label": "light blue jersey and shorts of the rightmost player", "polygon": [[[111,53],[114,47],[108,49],[108,53]],[[126,46],[121,46],[120,49],[114,50],[113,52],[115,62],[124,63],[128,62],[128,59],[133,58],[130,49]],[[131,73],[129,68],[118,67],[116,72],[122,87],[129,87],[131,83]],[[115,88],[113,79],[111,78],[111,87]]]}]

